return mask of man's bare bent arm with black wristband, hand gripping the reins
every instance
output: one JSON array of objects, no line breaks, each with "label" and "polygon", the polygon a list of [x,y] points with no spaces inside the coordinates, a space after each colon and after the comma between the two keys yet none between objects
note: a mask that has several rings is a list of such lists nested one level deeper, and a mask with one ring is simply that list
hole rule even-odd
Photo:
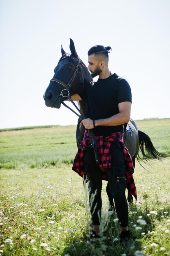
[{"label": "man's bare bent arm with black wristband, hand gripping the reins", "polygon": [[[124,101],[118,104],[119,113],[106,119],[95,120],[95,126],[118,126],[128,123],[130,120],[130,110],[132,103]],[[82,120],[82,124],[86,129],[93,129],[93,120],[90,118]]]}]

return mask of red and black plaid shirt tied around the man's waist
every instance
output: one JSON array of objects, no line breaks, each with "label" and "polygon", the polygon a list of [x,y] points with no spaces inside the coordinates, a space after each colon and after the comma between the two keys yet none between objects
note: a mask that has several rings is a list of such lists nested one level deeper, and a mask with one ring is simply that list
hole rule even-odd
[{"label": "red and black plaid shirt tied around the man's waist", "polygon": [[[124,145],[123,135],[124,134],[122,132],[114,132],[107,137],[95,136],[98,153],[99,153],[99,167],[102,170],[102,180],[108,180],[106,169],[111,168],[111,156],[110,156],[111,142],[115,141],[115,142],[121,143],[122,149],[124,152],[124,159],[125,159],[125,166],[126,166],[126,180],[127,180],[126,188],[137,200],[137,190],[135,186],[135,181],[133,179],[134,168],[133,168],[132,158],[128,152],[128,149]],[[84,150],[85,150],[85,146],[89,146],[89,145],[91,145],[91,141],[90,141],[87,130],[85,130],[83,141],[78,148],[77,154],[75,155],[75,159],[72,167],[73,171],[78,173],[81,177],[85,175],[84,163],[83,163]]]}]

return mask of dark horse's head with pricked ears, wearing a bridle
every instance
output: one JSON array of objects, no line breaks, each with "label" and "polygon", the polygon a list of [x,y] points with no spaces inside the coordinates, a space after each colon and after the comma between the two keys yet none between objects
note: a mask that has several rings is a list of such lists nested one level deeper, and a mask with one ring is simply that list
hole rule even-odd
[{"label": "dark horse's head with pricked ears, wearing a bridle", "polygon": [[60,108],[68,93],[71,95],[81,92],[84,84],[91,81],[90,73],[79,59],[74,42],[70,39],[70,54],[66,54],[62,48],[62,57],[54,69],[54,76],[43,97],[46,106]]}]

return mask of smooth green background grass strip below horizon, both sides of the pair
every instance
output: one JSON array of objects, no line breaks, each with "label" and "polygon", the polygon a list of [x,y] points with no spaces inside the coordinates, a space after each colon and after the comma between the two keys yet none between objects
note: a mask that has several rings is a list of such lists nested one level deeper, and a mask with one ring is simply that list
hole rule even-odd
[{"label": "smooth green background grass strip below horizon, both sides of the pair", "polygon": [[[156,149],[170,154],[170,119],[137,121]],[[0,132],[0,168],[49,167],[73,162],[77,146],[75,126],[51,126]]]}]

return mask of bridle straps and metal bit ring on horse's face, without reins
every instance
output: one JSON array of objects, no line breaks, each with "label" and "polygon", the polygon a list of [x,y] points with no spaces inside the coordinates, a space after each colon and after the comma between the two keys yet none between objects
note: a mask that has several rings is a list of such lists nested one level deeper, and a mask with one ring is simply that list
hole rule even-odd
[{"label": "bridle straps and metal bit ring on horse's face, without reins", "polygon": [[[61,61],[62,61],[64,58],[68,58],[68,56],[63,57],[63,58],[61,59]],[[78,60],[77,60],[77,59],[74,58],[74,57],[71,57],[71,58],[72,58],[73,60],[77,61],[77,66],[75,67],[75,71],[74,71],[73,75],[71,76],[70,81],[69,81],[67,84],[65,84],[65,83],[63,83],[62,81],[57,80],[57,79],[55,79],[55,78],[53,78],[53,79],[50,80],[50,82],[51,82],[51,81],[54,81],[54,82],[60,83],[60,85],[64,86],[65,89],[63,89],[63,90],[61,91],[60,95],[59,95],[59,96],[62,96],[62,97],[64,97],[64,98],[68,98],[68,96],[70,95],[69,89],[71,88],[72,83],[73,83],[73,81],[74,81],[74,79],[75,79],[75,76],[78,74],[79,69],[82,69],[82,67],[81,67],[81,65],[80,65],[80,59],[78,58]],[[64,95],[63,95],[63,91],[67,91],[68,95],[67,95],[67,96],[64,96]]]}]

